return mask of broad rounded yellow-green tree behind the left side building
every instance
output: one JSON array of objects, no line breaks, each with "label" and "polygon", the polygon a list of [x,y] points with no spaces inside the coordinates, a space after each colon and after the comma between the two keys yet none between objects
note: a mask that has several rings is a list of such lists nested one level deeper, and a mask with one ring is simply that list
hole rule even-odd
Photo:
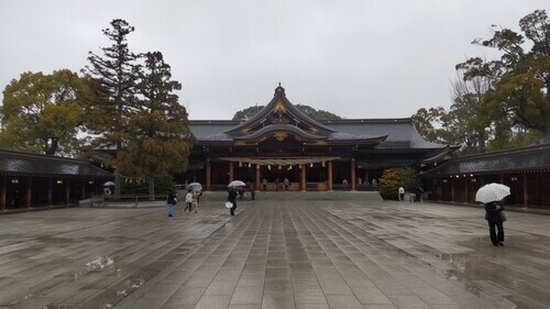
[{"label": "broad rounded yellow-green tree behind the left side building", "polygon": [[23,73],[3,91],[0,145],[48,155],[76,156],[87,82],[68,69]]}]

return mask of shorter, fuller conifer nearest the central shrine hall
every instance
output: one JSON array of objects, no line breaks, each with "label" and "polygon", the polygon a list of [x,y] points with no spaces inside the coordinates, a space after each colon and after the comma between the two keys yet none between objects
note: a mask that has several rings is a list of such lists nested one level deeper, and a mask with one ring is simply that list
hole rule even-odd
[{"label": "shorter, fuller conifer nearest the central shrine hall", "polygon": [[174,93],[182,85],[170,80],[170,66],[160,52],[144,56],[136,85],[139,104],[129,118],[130,134],[117,162],[125,175],[145,176],[153,198],[155,178],[187,169],[195,137],[188,128],[187,111]]}]

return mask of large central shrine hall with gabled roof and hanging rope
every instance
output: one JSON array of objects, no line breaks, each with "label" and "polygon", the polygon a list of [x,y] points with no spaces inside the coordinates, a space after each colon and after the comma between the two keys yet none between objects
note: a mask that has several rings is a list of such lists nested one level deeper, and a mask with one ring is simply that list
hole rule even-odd
[{"label": "large central shrine hall with gabled roof and hanging rope", "polygon": [[[385,168],[448,159],[447,145],[421,137],[410,119],[316,121],[277,87],[270,103],[244,121],[189,121],[198,144],[182,181],[207,190],[234,179],[258,190],[366,190]],[[179,178],[179,177],[178,177]]]}]

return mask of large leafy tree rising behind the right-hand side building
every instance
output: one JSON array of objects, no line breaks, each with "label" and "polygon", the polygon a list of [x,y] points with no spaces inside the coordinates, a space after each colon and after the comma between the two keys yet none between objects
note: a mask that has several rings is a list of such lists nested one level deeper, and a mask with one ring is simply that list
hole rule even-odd
[{"label": "large leafy tree rising behind the right-hand side building", "polygon": [[519,27],[521,33],[495,25],[488,40],[473,42],[498,49],[499,59],[472,57],[457,66],[464,71],[464,80],[492,80],[483,104],[493,128],[508,131],[493,134],[504,139],[496,140],[501,144],[526,131],[537,136],[550,131],[550,20],[546,11],[537,10],[522,18]]}]

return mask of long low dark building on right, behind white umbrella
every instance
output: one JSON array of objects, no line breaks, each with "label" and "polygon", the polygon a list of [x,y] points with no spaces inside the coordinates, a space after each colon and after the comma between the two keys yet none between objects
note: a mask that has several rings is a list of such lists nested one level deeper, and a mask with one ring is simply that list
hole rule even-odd
[{"label": "long low dark building on right, behind white umbrella", "polygon": [[510,187],[507,205],[550,207],[550,143],[455,157],[422,174],[428,199],[477,203],[475,192],[485,184]]}]

